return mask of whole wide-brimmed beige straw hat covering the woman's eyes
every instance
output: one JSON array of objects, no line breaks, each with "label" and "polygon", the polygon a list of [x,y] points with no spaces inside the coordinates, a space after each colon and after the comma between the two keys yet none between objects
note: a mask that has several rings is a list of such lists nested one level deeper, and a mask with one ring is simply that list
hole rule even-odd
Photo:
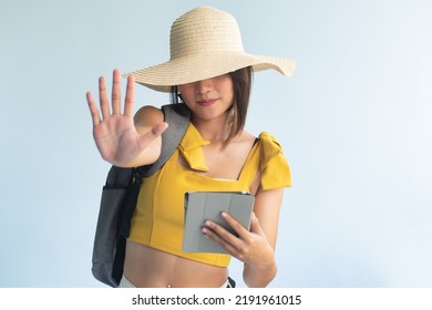
[{"label": "whole wide-brimmed beige straw hat covering the woman's eyes", "polygon": [[245,53],[235,18],[224,11],[198,7],[171,27],[171,59],[158,65],[124,74],[150,89],[169,92],[192,83],[251,65],[254,71],[274,69],[287,76],[294,60]]}]

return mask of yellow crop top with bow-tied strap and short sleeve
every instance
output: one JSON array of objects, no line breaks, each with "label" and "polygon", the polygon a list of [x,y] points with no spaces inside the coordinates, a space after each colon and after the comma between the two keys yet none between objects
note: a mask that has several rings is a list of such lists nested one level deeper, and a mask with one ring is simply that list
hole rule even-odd
[{"label": "yellow crop top with bow-tied strap and short sleeve", "polygon": [[144,178],[137,206],[132,217],[130,239],[179,257],[204,264],[227,267],[229,255],[183,252],[184,196],[187,192],[224,190],[249,192],[257,169],[261,170],[261,188],[271,189],[291,185],[289,166],[278,142],[261,133],[251,148],[237,180],[223,180],[194,173],[177,163],[179,154],[194,170],[206,172],[203,140],[189,123],[183,141],[166,164],[154,175]]}]

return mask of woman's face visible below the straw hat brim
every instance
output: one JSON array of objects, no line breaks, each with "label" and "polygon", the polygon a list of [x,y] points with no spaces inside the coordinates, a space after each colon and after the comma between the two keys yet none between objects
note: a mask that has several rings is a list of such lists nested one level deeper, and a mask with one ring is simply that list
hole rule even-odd
[{"label": "woman's face visible below the straw hat brim", "polygon": [[234,99],[233,80],[229,74],[178,85],[178,91],[194,117],[207,121],[226,117]]}]

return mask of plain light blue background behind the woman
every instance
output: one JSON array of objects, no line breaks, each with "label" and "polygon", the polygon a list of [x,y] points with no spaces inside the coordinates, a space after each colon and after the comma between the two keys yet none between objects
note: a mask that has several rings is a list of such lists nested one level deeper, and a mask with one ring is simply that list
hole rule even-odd
[{"label": "plain light blue background behind the woman", "polygon": [[[168,59],[175,18],[233,13],[255,75],[247,130],[292,170],[272,287],[432,286],[432,2],[54,1],[0,4],[0,287],[99,287],[90,272],[109,164],[85,92]],[[165,94],[137,87],[137,105]],[[240,265],[230,273],[241,281]]]}]

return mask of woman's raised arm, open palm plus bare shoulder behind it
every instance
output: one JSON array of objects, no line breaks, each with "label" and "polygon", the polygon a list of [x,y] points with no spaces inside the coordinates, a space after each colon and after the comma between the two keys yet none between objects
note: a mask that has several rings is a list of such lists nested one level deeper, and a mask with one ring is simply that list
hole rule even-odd
[{"label": "woman's raised arm, open palm plus bare shoulder behind it", "polygon": [[106,95],[104,78],[99,80],[101,114],[88,92],[86,100],[93,120],[93,137],[102,158],[120,167],[151,164],[161,154],[161,134],[167,124],[163,113],[155,107],[140,110],[135,120],[134,79],[127,79],[124,112],[121,112],[120,72],[114,70],[112,87],[112,112]]}]

